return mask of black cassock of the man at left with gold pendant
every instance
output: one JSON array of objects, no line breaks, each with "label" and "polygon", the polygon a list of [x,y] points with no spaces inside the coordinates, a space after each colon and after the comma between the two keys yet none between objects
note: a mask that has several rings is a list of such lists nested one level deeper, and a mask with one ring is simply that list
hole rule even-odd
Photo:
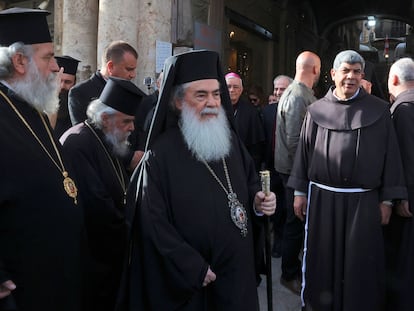
[{"label": "black cassock of the man at left with gold pendant", "polygon": [[[39,113],[3,85],[0,89],[59,163]],[[17,286],[0,300],[0,310],[14,300],[20,311],[78,311],[84,234],[80,203],[68,196],[62,172],[1,96],[0,144],[0,283],[10,279]]]}]

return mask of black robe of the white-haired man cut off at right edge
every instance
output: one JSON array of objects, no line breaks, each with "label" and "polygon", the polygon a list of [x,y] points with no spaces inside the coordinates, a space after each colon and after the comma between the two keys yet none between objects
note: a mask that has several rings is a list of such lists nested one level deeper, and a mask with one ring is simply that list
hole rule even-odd
[{"label": "black robe of the white-haired man cut off at right edge", "polygon": [[[409,206],[414,211],[414,90],[399,94],[391,106],[393,123],[401,150],[407,183]],[[389,281],[389,311],[413,309],[414,293],[414,221],[392,215],[386,230]]]}]

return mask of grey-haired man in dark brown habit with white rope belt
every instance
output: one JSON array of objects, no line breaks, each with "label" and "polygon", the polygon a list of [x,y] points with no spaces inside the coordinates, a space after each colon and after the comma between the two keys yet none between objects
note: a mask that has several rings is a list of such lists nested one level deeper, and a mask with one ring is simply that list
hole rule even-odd
[{"label": "grey-haired man in dark brown habit with white rope belt", "polygon": [[360,88],[363,70],[357,52],[336,56],[335,87],[309,106],[289,179],[306,218],[305,310],[385,307],[382,225],[407,193],[388,104]]}]

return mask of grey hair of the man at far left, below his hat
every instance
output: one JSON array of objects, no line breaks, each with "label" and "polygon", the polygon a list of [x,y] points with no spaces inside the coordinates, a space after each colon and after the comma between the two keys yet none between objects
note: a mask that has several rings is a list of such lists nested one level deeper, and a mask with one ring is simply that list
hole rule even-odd
[{"label": "grey hair of the man at far left, below his hat", "polygon": [[31,59],[33,47],[31,45],[25,45],[22,42],[0,47],[0,79],[7,80],[13,76],[15,70],[12,57],[17,53],[21,53],[23,56]]}]

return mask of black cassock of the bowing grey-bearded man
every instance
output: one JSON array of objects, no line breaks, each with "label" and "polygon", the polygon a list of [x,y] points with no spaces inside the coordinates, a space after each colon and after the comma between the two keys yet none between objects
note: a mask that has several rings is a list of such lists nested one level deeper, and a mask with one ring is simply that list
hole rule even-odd
[{"label": "black cassock of the bowing grey-bearded man", "polygon": [[[113,156],[102,131],[93,130],[126,187],[129,177],[118,166],[121,161]],[[90,251],[84,271],[85,310],[112,311],[127,243],[124,189],[100,141],[84,123],[69,129],[61,141],[79,175],[79,194],[85,214]]]}]

